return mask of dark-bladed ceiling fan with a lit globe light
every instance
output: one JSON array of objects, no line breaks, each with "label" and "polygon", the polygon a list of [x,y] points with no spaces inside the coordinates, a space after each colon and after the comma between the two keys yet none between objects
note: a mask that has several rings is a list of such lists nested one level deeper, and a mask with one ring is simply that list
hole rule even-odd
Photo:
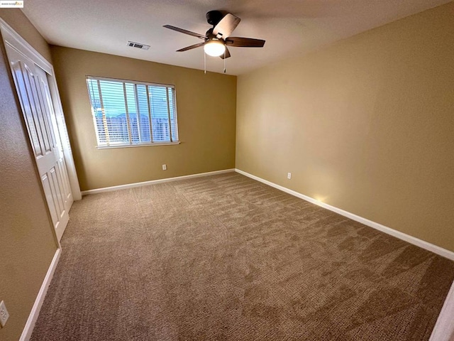
[{"label": "dark-bladed ceiling fan with a lit globe light", "polygon": [[163,27],[204,40],[203,43],[197,43],[187,46],[186,48],[180,48],[177,52],[192,50],[193,48],[201,48],[203,46],[207,55],[225,59],[230,57],[228,47],[262,48],[263,45],[265,45],[265,40],[261,39],[231,37],[230,35],[233,30],[235,30],[236,26],[238,26],[241,19],[231,13],[226,13],[225,15],[224,13],[225,12],[221,11],[209,11],[206,13],[206,21],[213,25],[213,28],[206,31],[205,36],[203,34],[194,33],[171,25],[164,25]]}]

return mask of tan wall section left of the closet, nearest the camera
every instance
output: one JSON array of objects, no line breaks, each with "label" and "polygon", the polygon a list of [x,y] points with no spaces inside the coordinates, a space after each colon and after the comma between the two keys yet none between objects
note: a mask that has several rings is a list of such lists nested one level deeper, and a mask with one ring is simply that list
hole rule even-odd
[{"label": "tan wall section left of the closet, nearest the camera", "polygon": [[[3,14],[1,10],[0,16]],[[22,20],[27,26],[27,21]],[[0,46],[0,301],[5,301],[10,314],[5,328],[0,328],[0,340],[16,341],[57,244],[16,102],[11,71],[3,44]]]}]

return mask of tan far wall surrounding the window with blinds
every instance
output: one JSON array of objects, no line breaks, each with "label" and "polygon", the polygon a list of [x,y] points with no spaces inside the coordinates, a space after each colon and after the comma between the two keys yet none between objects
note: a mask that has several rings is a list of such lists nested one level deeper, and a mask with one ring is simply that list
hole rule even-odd
[{"label": "tan far wall surrounding the window with blinds", "polygon": [[[236,77],[72,48],[51,50],[81,190],[235,166]],[[182,143],[97,149],[86,75],[175,85]]]}]

